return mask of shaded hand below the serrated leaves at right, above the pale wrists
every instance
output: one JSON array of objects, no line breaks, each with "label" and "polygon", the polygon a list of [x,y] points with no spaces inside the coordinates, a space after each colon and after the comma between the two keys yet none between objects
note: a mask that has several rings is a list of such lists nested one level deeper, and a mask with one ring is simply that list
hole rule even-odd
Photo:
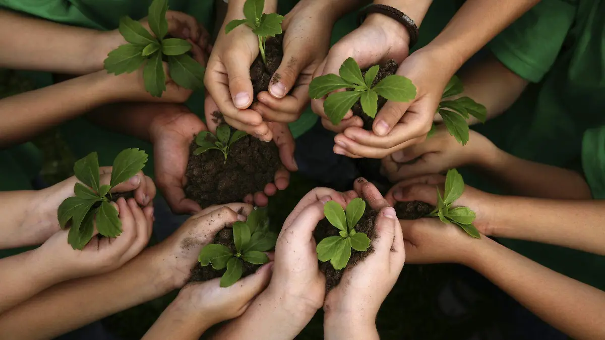
[{"label": "shaded hand below the serrated leaves at right, above the pale wrists", "polygon": [[[466,165],[480,165],[495,154],[495,145],[481,134],[469,131],[468,143],[458,143],[440,125],[425,142],[394,152],[382,159],[382,171],[395,183],[418,175],[437,174]],[[411,164],[405,164],[416,160]]]}]

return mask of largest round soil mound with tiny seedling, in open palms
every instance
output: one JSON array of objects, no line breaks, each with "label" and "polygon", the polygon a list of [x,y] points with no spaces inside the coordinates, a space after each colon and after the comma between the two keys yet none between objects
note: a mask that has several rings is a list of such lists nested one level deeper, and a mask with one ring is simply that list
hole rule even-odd
[{"label": "largest round soil mound with tiny seedling, in open palms", "polygon": [[261,142],[228,125],[220,125],[216,136],[200,132],[190,152],[185,194],[202,208],[263,191],[281,167],[274,142]]}]

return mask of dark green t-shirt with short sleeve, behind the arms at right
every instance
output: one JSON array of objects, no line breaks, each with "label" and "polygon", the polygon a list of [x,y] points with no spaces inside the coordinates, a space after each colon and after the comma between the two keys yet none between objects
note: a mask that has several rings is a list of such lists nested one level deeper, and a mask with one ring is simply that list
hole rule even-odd
[{"label": "dark green t-shirt with short sleeve, behind the arms at right", "polygon": [[[603,13],[605,0],[542,1],[497,36],[490,44],[492,53],[532,84],[505,114],[477,131],[523,159],[580,169],[584,131],[605,124]],[[592,140],[586,138],[585,146]],[[495,191],[477,178],[467,178],[469,185]],[[597,182],[592,181],[595,188]],[[501,241],[538,263],[605,289],[604,257]]]}]

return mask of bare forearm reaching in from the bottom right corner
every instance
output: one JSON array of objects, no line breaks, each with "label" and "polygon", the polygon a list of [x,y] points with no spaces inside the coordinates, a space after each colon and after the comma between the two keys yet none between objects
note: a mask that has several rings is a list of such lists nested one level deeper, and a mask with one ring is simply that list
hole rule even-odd
[{"label": "bare forearm reaching in from the bottom right corner", "polygon": [[483,238],[471,264],[532,313],[574,339],[605,339],[605,292]]}]

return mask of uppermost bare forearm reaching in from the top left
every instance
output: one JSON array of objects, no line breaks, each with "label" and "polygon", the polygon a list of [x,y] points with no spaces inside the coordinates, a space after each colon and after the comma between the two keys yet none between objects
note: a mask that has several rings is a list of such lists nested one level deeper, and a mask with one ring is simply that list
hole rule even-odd
[{"label": "uppermost bare forearm reaching in from the top left", "polygon": [[0,68],[70,74],[103,68],[95,53],[99,31],[0,10],[0,32]]}]

